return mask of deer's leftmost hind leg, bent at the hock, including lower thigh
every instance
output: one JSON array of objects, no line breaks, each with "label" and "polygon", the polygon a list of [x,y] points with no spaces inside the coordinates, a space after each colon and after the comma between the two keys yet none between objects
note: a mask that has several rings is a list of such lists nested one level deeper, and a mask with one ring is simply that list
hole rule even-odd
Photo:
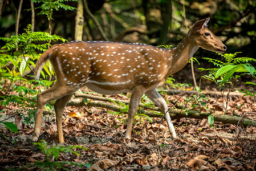
[{"label": "deer's leftmost hind leg, bent at the hock, including lower thigh", "polygon": [[[62,91],[60,91],[60,89],[62,89]],[[37,141],[40,135],[44,105],[46,105],[49,101],[59,99],[66,95],[71,95],[74,92],[74,89],[62,86],[56,82],[50,89],[38,93],[33,141]]]}]

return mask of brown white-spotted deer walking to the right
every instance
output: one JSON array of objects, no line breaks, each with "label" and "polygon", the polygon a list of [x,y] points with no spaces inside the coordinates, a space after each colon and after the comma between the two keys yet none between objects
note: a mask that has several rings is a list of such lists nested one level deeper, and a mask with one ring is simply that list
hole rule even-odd
[{"label": "brown white-spotted deer walking to the right", "polygon": [[206,26],[208,21],[206,18],[194,23],[182,42],[170,49],[104,41],[72,41],[52,46],[36,63],[35,79],[50,60],[56,83],[37,95],[33,141],[37,141],[40,135],[44,105],[56,100],[58,141],[63,143],[64,107],[83,86],[104,95],[131,92],[125,139],[131,139],[133,119],[144,94],[161,108],[170,135],[176,139],[168,107],[156,88],[162,86],[169,75],[185,67],[199,47],[218,53],[226,51],[226,46]]}]

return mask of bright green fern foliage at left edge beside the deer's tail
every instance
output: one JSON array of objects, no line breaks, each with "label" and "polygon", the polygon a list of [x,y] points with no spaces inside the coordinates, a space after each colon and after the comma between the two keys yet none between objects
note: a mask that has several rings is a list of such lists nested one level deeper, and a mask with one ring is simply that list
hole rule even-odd
[{"label": "bright green fern foliage at left edge beside the deer's tail", "polygon": [[[63,39],[57,35],[50,35],[47,32],[31,32],[31,25],[28,25],[25,29],[25,33],[19,35],[12,35],[10,38],[1,38],[7,43],[0,50],[0,64],[4,66],[11,62],[13,67],[6,67],[6,70],[9,74],[1,74],[1,77],[9,78],[12,81],[15,80],[26,80],[22,79],[22,75],[25,70],[30,71],[30,65],[35,66],[34,60],[40,57],[38,54],[39,51],[46,51],[47,46],[51,46],[50,42],[61,40],[66,42],[66,39]],[[38,42],[48,42],[43,44],[38,44]],[[18,50],[17,50],[18,49]],[[18,68],[18,70],[15,70]],[[51,70],[51,64],[47,63],[47,67],[44,66],[48,75],[51,75],[53,72]],[[45,74],[41,72],[44,76]],[[45,76],[44,76],[45,78]]]}]

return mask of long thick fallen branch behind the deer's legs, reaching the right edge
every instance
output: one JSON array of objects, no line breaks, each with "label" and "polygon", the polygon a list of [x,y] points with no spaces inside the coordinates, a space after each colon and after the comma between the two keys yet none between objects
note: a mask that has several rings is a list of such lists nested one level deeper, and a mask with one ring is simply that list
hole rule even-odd
[{"label": "long thick fallen branch behind the deer's legs, reaching the right edge", "polygon": [[[68,106],[86,106],[86,107],[100,107],[106,108],[112,111],[121,112],[121,108],[116,104],[104,103],[101,101],[88,101],[85,103],[82,100],[72,100],[68,104]],[[152,111],[144,111],[144,115],[148,115],[149,117],[161,117],[162,113],[156,112],[159,111],[159,108],[152,108]],[[124,112],[127,113],[127,112]],[[185,113],[185,110],[182,109],[170,109],[169,110],[170,117],[172,119],[180,119],[182,117],[190,117],[194,119],[207,119],[210,113],[200,113],[198,111],[190,110],[188,113]],[[216,113],[212,113],[214,117],[214,121],[219,121],[226,124],[237,124],[241,117],[230,116],[230,115],[218,115]],[[245,119],[243,121],[244,126],[253,126],[256,127],[256,121]]]}]

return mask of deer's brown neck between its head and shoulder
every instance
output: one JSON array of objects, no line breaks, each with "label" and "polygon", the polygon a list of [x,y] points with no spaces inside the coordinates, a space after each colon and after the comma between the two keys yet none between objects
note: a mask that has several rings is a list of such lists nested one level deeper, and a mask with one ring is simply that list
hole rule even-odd
[{"label": "deer's brown neck between its head and shoulder", "polygon": [[188,34],[177,47],[167,50],[169,55],[167,62],[169,66],[168,76],[184,68],[198,48],[199,46],[196,45]]}]

